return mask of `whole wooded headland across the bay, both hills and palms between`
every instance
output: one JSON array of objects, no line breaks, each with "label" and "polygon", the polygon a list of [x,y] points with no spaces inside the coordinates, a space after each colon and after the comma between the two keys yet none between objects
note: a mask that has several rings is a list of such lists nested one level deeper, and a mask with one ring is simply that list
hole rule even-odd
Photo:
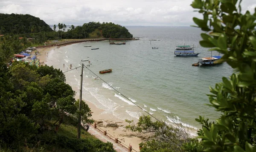
[{"label": "whole wooded headland across the bay, both hills and palms between", "polygon": [[[58,30],[56,30],[58,28]],[[0,14],[0,34],[34,38],[34,43],[43,44],[49,40],[85,38],[132,38],[125,27],[114,23],[89,22],[82,26],[58,23],[53,29],[43,20],[29,14]]]}]

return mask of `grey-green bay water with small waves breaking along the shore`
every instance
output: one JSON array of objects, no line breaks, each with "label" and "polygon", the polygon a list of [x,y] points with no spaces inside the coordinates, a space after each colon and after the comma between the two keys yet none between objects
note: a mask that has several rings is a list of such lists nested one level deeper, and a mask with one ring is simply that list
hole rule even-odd
[{"label": "grey-green bay water with small waves breaking along the shore", "polygon": [[[148,113],[166,122],[175,115],[185,125],[200,127],[195,121],[198,115],[215,120],[220,115],[209,103],[206,94],[209,86],[230,76],[233,69],[226,63],[214,66],[192,67],[201,57],[211,52],[199,45],[201,31],[190,27],[126,27],[137,41],[126,41],[126,45],[109,45],[108,41],[83,42],[67,45],[50,51],[47,64],[63,71],[70,64],[81,65],[81,59],[89,57],[90,70],[111,84],[120,93],[136,102]],[[155,39],[157,41],[150,41]],[[151,43],[151,44],[150,44]],[[176,45],[195,45],[198,57],[174,56]],[[84,48],[85,45],[92,47]],[[152,47],[159,47],[152,49]],[[91,50],[91,48],[99,48]],[[212,52],[218,55],[217,52]],[[63,68],[65,64],[65,68]],[[84,62],[85,65],[88,62]],[[99,70],[112,68],[112,73],[99,74]],[[67,83],[79,89],[81,69],[65,73]],[[105,110],[113,118],[137,119],[146,114],[130,101],[106,85],[86,68],[83,77],[83,99]]]}]

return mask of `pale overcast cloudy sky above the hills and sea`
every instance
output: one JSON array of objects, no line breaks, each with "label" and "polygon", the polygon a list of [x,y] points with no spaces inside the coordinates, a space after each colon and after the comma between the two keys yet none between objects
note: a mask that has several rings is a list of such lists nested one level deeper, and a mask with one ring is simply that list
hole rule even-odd
[{"label": "pale overcast cloudy sky above the hills and sea", "polygon": [[[113,22],[122,26],[189,26],[192,0],[0,0],[0,13],[31,14],[49,25]],[[243,0],[254,13],[256,0]]]}]

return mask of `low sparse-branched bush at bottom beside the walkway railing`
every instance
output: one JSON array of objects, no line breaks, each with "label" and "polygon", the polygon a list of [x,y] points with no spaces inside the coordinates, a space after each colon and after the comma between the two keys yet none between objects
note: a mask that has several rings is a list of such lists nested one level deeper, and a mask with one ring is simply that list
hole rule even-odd
[{"label": "low sparse-branched bush at bottom beside the walkway railing", "polygon": [[197,149],[195,152],[202,152],[204,147],[198,144],[197,139],[189,137],[189,129],[184,127],[177,117],[172,115],[169,117],[176,122],[174,126],[164,121],[152,121],[149,115],[140,116],[136,124],[132,120],[125,120],[129,123],[127,129],[144,134],[143,142],[140,143],[140,152],[183,152],[184,149],[192,149],[195,144],[194,148]]}]

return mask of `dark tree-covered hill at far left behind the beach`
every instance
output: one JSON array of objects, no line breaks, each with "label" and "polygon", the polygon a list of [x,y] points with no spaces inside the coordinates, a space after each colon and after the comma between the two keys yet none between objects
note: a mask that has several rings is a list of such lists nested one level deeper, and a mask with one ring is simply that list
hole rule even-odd
[{"label": "dark tree-covered hill at far left behind the beach", "polygon": [[2,14],[0,13],[0,34],[26,34],[41,31],[52,31],[43,20],[29,14]]}]

